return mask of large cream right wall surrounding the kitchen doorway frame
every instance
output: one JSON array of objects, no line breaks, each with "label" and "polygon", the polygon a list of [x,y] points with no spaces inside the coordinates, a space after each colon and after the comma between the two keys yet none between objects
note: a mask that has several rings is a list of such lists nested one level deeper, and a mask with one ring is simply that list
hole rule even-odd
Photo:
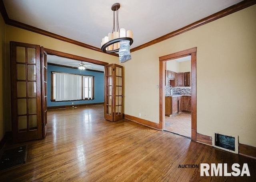
[{"label": "large cream right wall surrounding the kitchen doorway frame", "polygon": [[159,122],[159,57],[197,47],[197,132],[256,147],[256,5],[132,53],[124,112]]}]

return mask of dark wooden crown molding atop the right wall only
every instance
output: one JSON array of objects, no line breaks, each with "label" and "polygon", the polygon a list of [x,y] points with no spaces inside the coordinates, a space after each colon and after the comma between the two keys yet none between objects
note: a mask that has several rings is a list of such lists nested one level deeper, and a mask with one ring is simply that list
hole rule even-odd
[{"label": "dark wooden crown molding atop the right wall only", "polygon": [[171,33],[168,33],[166,35],[158,37],[158,38],[156,38],[156,39],[154,39],[152,41],[149,41],[147,43],[144,43],[144,44],[142,44],[142,45],[140,45],[138,47],[134,47],[130,51],[131,52],[138,51],[138,50],[143,49],[145,47],[148,47],[150,45],[154,45],[154,44],[159,43],[161,41],[164,41],[166,39],[170,39],[171,37],[174,37],[176,35],[180,35],[181,33],[184,33],[186,31],[192,30],[192,29],[194,29],[196,27],[199,27],[199,26],[202,26],[202,25],[204,25],[206,23],[210,23],[210,22],[212,22],[214,20],[217,20],[217,19],[222,18],[224,16],[230,15],[230,14],[232,14],[234,12],[237,12],[239,10],[242,10],[244,8],[252,6],[254,4],[256,4],[256,0],[244,0],[244,1],[241,1],[241,2],[239,2],[237,4],[234,4],[233,6],[230,6],[230,7],[226,8],[226,9],[224,9],[224,10],[221,10],[221,11],[219,11],[217,13],[214,13],[214,14],[212,14],[210,16],[207,16],[206,18],[198,20],[198,21],[196,21],[194,23],[191,23],[191,24],[189,24],[189,25],[187,25],[187,26],[185,26],[183,28],[180,28],[180,29],[178,29],[176,31],[173,31]]}]

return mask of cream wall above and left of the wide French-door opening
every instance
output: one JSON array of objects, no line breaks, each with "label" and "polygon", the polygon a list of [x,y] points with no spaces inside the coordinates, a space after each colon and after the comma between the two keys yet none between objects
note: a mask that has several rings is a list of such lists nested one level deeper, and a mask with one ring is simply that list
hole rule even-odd
[{"label": "cream wall above and left of the wide French-door opening", "polygon": [[[86,49],[78,45],[60,41],[51,37],[40,35],[31,31],[6,25],[6,65],[10,65],[10,41],[30,43],[41,45],[48,49],[54,49],[73,55],[78,55],[98,61],[118,64],[118,57]],[[100,41],[100,39],[99,39]],[[10,105],[10,66],[5,70],[5,90],[4,90],[4,121],[6,122],[6,131],[11,131],[11,105]]]}]

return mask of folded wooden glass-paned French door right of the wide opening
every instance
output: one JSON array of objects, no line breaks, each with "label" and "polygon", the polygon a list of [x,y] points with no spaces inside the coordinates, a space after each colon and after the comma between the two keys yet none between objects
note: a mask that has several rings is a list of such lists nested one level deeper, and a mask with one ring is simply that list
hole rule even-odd
[{"label": "folded wooden glass-paned French door right of the wide opening", "polygon": [[109,121],[123,118],[123,67],[105,65],[104,117]]}]

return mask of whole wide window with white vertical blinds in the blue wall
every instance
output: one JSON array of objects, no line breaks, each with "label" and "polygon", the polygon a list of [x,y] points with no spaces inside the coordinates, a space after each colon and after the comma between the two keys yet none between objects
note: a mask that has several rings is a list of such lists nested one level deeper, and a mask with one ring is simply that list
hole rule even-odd
[{"label": "whole wide window with white vertical blinds in the blue wall", "polygon": [[52,72],[52,100],[94,99],[94,77]]}]

